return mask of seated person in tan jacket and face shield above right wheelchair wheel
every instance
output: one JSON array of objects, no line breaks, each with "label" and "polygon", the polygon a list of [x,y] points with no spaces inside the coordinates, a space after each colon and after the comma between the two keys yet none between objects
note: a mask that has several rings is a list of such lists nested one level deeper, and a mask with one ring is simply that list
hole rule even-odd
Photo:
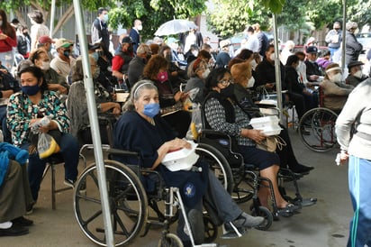
[{"label": "seated person in tan jacket and face shield above right wheelchair wheel", "polygon": [[324,96],[323,107],[337,113],[341,111],[347,102],[348,95],[354,88],[342,80],[341,68],[337,63],[332,63],[326,68],[326,76],[320,86]]}]

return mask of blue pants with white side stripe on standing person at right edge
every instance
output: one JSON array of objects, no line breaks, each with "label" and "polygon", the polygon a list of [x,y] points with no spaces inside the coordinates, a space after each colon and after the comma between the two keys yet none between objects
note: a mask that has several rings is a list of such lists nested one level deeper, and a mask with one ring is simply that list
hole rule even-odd
[{"label": "blue pants with white side stripe on standing person at right edge", "polygon": [[371,160],[349,156],[348,183],[354,215],[348,247],[371,246]]}]

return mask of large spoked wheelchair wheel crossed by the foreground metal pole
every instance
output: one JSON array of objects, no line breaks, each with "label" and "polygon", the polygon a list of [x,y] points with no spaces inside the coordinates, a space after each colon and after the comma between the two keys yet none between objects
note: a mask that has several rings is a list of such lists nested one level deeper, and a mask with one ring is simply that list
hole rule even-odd
[{"label": "large spoked wheelchair wheel crossed by the foreground metal pole", "polygon": [[[147,222],[147,195],[138,176],[127,166],[114,160],[104,160],[104,168],[114,244],[122,246],[131,242]],[[95,164],[86,168],[77,180],[74,190],[74,210],[83,233],[96,244],[106,246]]]}]

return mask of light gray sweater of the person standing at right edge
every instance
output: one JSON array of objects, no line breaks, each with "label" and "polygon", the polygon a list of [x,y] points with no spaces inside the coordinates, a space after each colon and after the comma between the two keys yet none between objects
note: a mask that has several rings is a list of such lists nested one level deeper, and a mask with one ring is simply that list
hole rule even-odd
[{"label": "light gray sweater of the person standing at right edge", "polygon": [[[336,134],[341,150],[350,155],[371,160],[371,78],[361,82],[348,96],[336,121]],[[356,124],[357,133],[366,133],[370,138],[352,136],[352,126]]]}]

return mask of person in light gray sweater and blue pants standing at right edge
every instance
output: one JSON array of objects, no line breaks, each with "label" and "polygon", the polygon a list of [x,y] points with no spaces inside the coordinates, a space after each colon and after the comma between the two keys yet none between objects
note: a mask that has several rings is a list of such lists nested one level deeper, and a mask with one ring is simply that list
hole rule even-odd
[{"label": "person in light gray sweater and blue pants standing at right edge", "polygon": [[[354,215],[349,225],[348,247],[371,246],[371,79],[361,82],[348,96],[335,131],[340,161],[348,162],[348,187]],[[356,132],[354,128],[356,126]]]}]

